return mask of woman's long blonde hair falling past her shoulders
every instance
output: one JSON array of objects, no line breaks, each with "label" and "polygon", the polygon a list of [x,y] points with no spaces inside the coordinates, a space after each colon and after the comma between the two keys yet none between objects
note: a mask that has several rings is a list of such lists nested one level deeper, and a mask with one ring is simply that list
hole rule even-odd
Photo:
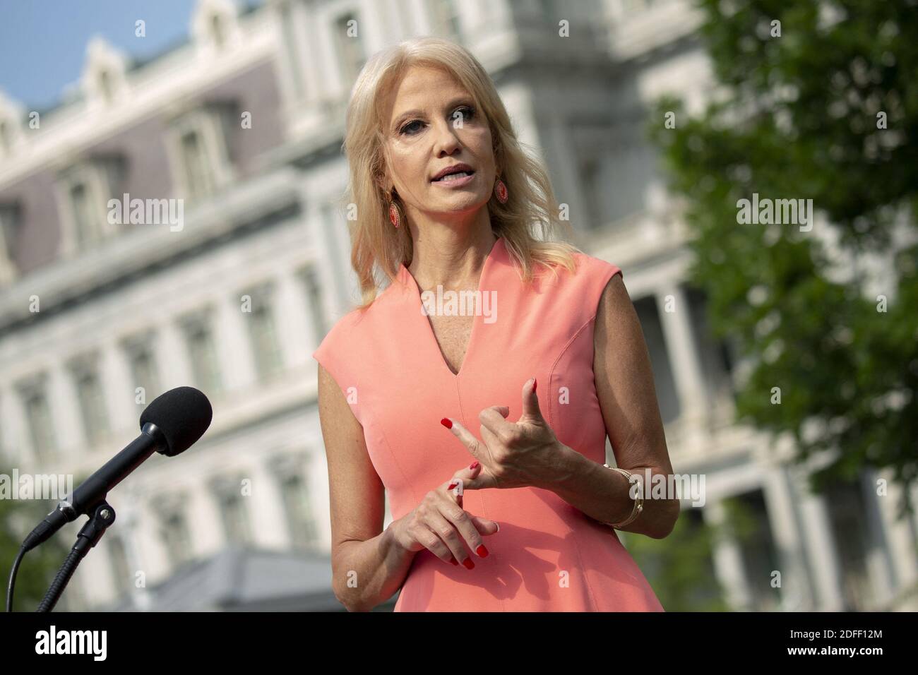
[{"label": "woman's long blonde hair falling past her shoulders", "polygon": [[[530,281],[537,264],[548,266],[555,275],[556,264],[574,272],[573,253],[580,250],[573,244],[550,240],[556,228],[565,227],[568,232],[571,229],[567,223],[562,225],[557,215],[558,204],[548,174],[539,160],[523,150],[487,71],[471,52],[450,40],[407,39],[377,51],[365,63],[347,107],[342,149],[349,163],[350,186],[341,206],[355,209],[358,214],[351,227],[351,264],[364,301],[357,309],[368,308],[379,292],[375,265],[391,281],[398,265],[408,266],[414,253],[409,228],[395,228],[388,219],[388,198],[378,179],[386,166],[383,144],[388,126],[383,119],[382,94],[415,65],[452,73],[488,120],[495,161],[509,191],[506,204],[501,204],[494,194],[487,202],[491,230],[503,237],[521,280]],[[535,227],[541,227],[542,241],[533,236]]]}]

